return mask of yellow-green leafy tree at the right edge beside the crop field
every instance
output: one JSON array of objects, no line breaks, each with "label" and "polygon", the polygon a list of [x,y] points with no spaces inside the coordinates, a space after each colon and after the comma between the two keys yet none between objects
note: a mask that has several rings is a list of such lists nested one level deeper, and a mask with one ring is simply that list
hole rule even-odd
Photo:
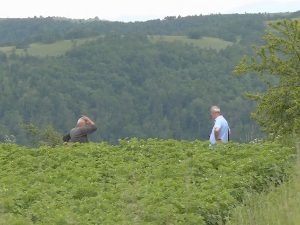
[{"label": "yellow-green leafy tree at the right edge beside the crop field", "polygon": [[[259,49],[254,46],[256,57],[248,62],[245,56],[238,64],[235,75],[258,72],[268,84],[265,94],[246,96],[259,104],[257,112],[252,114],[262,131],[277,135],[299,135],[300,132],[300,21],[284,20],[269,24],[278,33],[267,31],[263,37],[267,45]],[[265,75],[278,77],[272,85]]]}]

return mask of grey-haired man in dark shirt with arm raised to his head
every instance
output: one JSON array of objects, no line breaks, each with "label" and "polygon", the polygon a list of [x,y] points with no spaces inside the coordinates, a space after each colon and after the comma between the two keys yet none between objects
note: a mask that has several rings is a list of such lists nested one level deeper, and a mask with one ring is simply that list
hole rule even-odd
[{"label": "grey-haired man in dark shirt with arm raised to his head", "polygon": [[[90,124],[88,126],[87,124]],[[77,126],[73,128],[69,133],[63,136],[63,142],[79,142],[88,143],[88,135],[95,132],[97,127],[95,123],[86,116],[82,116],[78,122]]]}]

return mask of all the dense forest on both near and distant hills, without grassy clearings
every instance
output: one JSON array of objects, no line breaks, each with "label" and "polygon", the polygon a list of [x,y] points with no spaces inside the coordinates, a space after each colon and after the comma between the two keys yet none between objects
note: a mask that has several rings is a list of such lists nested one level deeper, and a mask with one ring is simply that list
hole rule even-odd
[{"label": "all the dense forest on both near and distant hills, without grassy clearings", "polygon": [[[95,142],[116,144],[126,137],[207,140],[212,105],[229,121],[232,140],[259,137],[250,119],[255,103],[243,93],[262,93],[267,87],[257,74],[234,77],[232,71],[243,55],[253,52],[252,44],[262,43],[267,21],[298,14],[178,16],[136,23],[0,20],[2,46],[26,48],[33,42],[102,35],[56,57],[0,52],[0,140],[14,135],[18,144],[29,145],[22,124],[52,125],[66,133],[83,114],[98,125],[90,137]],[[154,34],[191,32],[234,44],[217,51],[149,40]]]}]

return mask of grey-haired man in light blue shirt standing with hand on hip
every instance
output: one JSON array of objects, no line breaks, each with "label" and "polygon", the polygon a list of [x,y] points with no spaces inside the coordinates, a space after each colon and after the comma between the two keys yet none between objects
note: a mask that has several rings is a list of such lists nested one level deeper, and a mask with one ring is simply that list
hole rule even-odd
[{"label": "grey-haired man in light blue shirt standing with hand on hip", "polygon": [[221,115],[221,110],[217,106],[212,106],[210,113],[212,118],[215,120],[215,124],[209,138],[210,142],[212,144],[216,142],[228,142],[231,131],[228,126],[228,122]]}]

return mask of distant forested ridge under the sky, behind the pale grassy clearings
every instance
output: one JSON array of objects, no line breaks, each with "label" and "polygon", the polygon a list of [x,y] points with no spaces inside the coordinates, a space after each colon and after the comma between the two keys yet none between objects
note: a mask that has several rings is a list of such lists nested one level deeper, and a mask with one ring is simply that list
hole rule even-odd
[{"label": "distant forested ridge under the sky, behind the pale grassy clearings", "polygon": [[[93,20],[66,20],[60,18],[0,19],[0,44],[22,42],[53,43],[57,40],[105,35],[109,32],[144,33],[148,35],[186,35],[200,30],[201,36],[210,36],[232,41],[233,35],[253,36],[254,31],[263,31],[264,22],[276,19],[291,19],[295,13],[277,14],[212,14],[208,16],[167,16],[163,20],[146,22],[112,22]],[[254,32],[255,33],[255,32]]]}]

